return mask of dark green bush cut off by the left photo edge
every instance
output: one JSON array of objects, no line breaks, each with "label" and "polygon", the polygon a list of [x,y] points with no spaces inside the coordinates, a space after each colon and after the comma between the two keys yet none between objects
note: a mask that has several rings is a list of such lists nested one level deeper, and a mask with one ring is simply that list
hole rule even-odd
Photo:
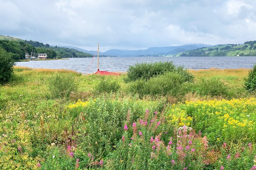
[{"label": "dark green bush cut off by the left photo edge", "polygon": [[0,48],[0,84],[7,83],[10,80],[14,65],[15,61],[11,53]]}]

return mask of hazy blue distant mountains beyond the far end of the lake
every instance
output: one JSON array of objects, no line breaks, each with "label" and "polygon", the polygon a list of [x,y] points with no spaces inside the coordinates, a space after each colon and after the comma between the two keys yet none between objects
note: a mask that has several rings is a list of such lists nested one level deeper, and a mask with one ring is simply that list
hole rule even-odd
[{"label": "hazy blue distant mountains beyond the far end of the lake", "polygon": [[[155,54],[175,54],[177,52],[182,52],[185,50],[192,50],[201,47],[210,47],[211,45],[205,44],[190,44],[190,45],[180,45],[180,46],[171,46],[171,47],[150,47],[146,50],[117,50],[111,49],[105,51],[105,55],[114,55],[114,56],[138,56],[138,55],[155,55]],[[177,49],[177,52],[175,52]],[[175,53],[174,53],[175,52]]]}]

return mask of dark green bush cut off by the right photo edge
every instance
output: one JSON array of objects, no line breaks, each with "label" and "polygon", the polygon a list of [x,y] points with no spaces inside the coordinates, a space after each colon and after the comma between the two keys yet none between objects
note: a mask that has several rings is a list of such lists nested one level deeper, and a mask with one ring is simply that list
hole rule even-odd
[{"label": "dark green bush cut off by the right photo edge", "polygon": [[256,64],[253,69],[249,71],[248,78],[245,78],[244,87],[249,92],[256,91]]}]

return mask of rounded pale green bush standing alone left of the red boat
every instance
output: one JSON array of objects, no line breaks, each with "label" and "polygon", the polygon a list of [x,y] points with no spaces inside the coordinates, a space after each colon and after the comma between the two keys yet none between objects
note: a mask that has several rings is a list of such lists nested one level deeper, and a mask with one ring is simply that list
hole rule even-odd
[{"label": "rounded pale green bush standing alone left of the red boat", "polygon": [[49,90],[53,98],[68,98],[71,91],[76,91],[78,85],[70,75],[56,74],[49,80]]}]

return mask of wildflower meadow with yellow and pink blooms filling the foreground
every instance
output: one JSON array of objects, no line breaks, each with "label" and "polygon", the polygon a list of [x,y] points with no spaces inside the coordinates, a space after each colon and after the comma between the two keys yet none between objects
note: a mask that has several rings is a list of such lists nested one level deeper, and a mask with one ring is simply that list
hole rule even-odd
[{"label": "wildflower meadow with yellow and pink blooms filling the foreground", "polygon": [[0,86],[0,169],[256,169],[248,71],[16,66]]}]

